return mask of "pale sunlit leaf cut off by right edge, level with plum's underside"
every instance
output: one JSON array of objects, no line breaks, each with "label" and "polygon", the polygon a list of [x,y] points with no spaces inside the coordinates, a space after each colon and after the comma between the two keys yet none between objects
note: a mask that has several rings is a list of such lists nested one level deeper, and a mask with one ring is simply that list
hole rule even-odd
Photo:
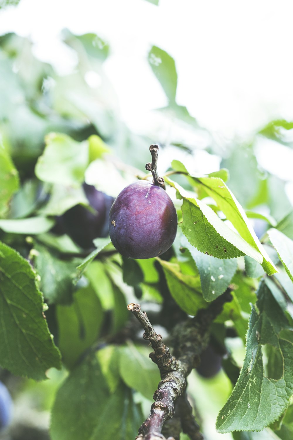
[{"label": "pale sunlit leaf cut off by right edge, level with plum's underside", "polygon": [[293,241],[277,229],[271,228],[268,236],[278,252],[287,274],[293,281]]}]

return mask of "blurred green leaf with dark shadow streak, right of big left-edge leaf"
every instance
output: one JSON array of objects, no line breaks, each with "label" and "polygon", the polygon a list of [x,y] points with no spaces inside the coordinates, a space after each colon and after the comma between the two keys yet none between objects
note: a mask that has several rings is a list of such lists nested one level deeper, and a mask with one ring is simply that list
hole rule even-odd
[{"label": "blurred green leaf with dark shadow streak, right of big left-edge leaf", "polygon": [[101,302],[91,285],[73,294],[69,306],[57,306],[59,343],[63,362],[72,368],[96,341],[103,321]]}]

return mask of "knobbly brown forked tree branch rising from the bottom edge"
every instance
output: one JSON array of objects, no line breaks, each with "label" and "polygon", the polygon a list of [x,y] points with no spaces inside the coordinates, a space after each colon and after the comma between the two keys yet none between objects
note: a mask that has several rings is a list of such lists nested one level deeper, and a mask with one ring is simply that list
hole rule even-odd
[{"label": "knobbly brown forked tree branch rising from the bottom edge", "polygon": [[[141,311],[140,305],[128,304],[128,310],[134,314],[145,330],[143,338],[152,345],[154,351],[150,353],[150,358],[158,365],[162,379],[154,393],[155,402],[152,404],[150,415],[138,430],[137,440],[166,439],[162,434],[164,422],[174,416],[174,402],[184,394],[187,386],[186,378],[199,363],[199,355],[208,344],[210,324],[221,313],[224,303],[231,300],[230,289],[227,289],[208,308],[199,310],[194,318],[187,319],[174,328],[173,346],[176,357],[171,355],[170,349],[163,343],[162,336],[156,334],[146,313]],[[184,405],[186,409],[186,402]],[[202,438],[199,430],[195,428],[195,421],[192,422],[189,416],[185,418],[182,415],[181,425],[189,435],[194,435],[192,439]],[[170,440],[171,437],[168,439]]]}]

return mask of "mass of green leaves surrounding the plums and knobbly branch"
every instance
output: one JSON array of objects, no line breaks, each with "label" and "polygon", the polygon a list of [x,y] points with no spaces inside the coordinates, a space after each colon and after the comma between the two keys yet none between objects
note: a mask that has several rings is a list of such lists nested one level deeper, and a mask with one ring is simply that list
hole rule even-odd
[{"label": "mass of green leaves surrounding the plums and knobbly branch", "polygon": [[[109,238],[96,238],[85,255],[68,235],[55,233],[58,216],[77,204],[90,209],[84,181],[117,195],[135,179],[134,167],[144,168],[149,143],[119,123],[115,106],[105,106],[108,44],[94,34],[66,31],[63,37],[80,62],[67,77],[37,61],[27,40],[0,38],[7,79],[0,104],[0,366],[35,380],[46,378],[50,367],[67,370],[52,408],[52,440],[130,440],[159,374],[127,303],[139,298],[162,324],[172,298],[180,317],[187,317],[230,286],[233,300],[212,331],[225,348],[232,327],[246,354],[237,365],[225,348],[223,368],[235,387],[217,430],[245,440],[261,439],[261,433],[237,431],[269,427],[268,436],[273,430],[282,440],[291,438],[293,213],[281,182],[259,176],[253,144],[232,149],[223,160],[229,187],[225,168],[195,176],[174,160],[165,176],[179,219],[171,251],[163,258],[127,260]],[[28,62],[21,65],[24,51],[29,71]],[[157,47],[148,59],[169,101],[159,111],[201,130],[176,103],[174,60]],[[15,66],[18,74],[12,73]],[[89,69],[103,82],[94,94],[84,80]],[[292,125],[278,121],[256,138],[283,142],[281,128]],[[188,149],[192,157],[190,145],[177,149],[179,156]],[[121,158],[129,151],[131,163],[124,166]],[[216,152],[211,142],[210,153]],[[264,205],[266,214],[258,209]],[[250,219],[263,228],[258,236]],[[166,330],[172,324],[164,324]]]}]

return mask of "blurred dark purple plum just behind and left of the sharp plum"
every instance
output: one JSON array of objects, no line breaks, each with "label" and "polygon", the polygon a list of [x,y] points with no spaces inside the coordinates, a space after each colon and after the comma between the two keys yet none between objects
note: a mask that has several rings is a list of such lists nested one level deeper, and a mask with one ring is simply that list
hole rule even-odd
[{"label": "blurred dark purple plum just behind and left of the sharp plum", "polygon": [[108,235],[108,216],[114,198],[87,183],[83,184],[83,190],[96,213],[76,205],[60,216],[57,224],[58,232],[68,234],[79,246],[89,249],[94,247],[94,238]]}]

